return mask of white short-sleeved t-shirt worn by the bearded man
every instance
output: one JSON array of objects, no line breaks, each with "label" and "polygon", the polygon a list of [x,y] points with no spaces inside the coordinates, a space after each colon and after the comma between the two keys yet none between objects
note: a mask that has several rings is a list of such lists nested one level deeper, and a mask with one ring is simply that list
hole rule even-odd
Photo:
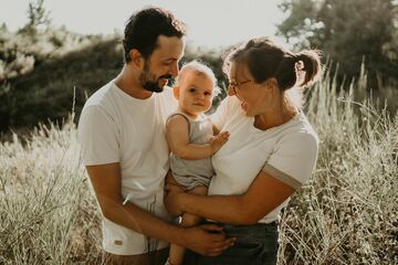
[{"label": "white short-sleeved t-shirt worn by the bearded man", "polygon": [[[164,205],[164,181],[169,170],[165,123],[177,108],[169,87],[137,99],[109,82],[84,105],[78,140],[85,166],[118,162],[122,194],[140,209],[170,221]],[[135,255],[168,246],[103,219],[103,247],[118,255]]]}]

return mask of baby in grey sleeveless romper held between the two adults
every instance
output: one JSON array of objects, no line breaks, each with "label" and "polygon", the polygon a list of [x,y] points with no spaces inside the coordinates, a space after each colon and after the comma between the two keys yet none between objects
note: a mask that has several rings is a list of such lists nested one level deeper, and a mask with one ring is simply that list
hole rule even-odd
[{"label": "baby in grey sleeveless romper held between the two adults", "polygon": [[[182,66],[174,87],[174,95],[179,104],[166,124],[166,137],[171,149],[170,169],[174,179],[189,193],[207,194],[214,173],[210,157],[229,138],[228,131],[218,134],[205,115],[218,89],[213,72],[198,61]],[[180,225],[192,226],[200,219],[184,213]],[[172,244],[167,264],[181,264],[184,253],[184,247]]]}]

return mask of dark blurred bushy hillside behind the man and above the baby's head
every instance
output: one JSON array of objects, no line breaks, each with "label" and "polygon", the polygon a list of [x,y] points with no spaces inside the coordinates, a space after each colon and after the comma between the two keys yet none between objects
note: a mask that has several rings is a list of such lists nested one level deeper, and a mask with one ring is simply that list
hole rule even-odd
[{"label": "dark blurred bushy hillside behind the man and above the baby's head", "polygon": [[[0,131],[61,123],[123,67],[122,35],[82,35],[54,29],[43,0],[31,2],[17,32],[0,26]],[[221,73],[220,52],[187,46],[182,61],[201,59]],[[220,82],[221,84],[221,82]],[[224,94],[223,94],[224,95]]]}]

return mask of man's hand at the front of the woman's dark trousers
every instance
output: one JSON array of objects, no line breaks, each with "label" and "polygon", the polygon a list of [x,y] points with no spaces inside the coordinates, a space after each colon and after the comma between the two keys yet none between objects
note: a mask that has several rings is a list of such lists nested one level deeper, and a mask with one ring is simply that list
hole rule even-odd
[{"label": "man's hand at the front of the woman's dark trousers", "polygon": [[232,246],[235,237],[226,237],[221,226],[203,224],[186,229],[184,246],[203,256],[218,256]]}]

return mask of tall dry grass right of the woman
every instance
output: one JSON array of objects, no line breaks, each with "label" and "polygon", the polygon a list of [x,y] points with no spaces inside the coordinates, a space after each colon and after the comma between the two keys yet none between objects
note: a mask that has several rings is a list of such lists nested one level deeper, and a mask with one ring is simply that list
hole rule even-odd
[{"label": "tall dry grass right of the woman", "polygon": [[282,215],[280,264],[398,264],[398,116],[360,82],[326,74],[308,95],[318,161]]}]

